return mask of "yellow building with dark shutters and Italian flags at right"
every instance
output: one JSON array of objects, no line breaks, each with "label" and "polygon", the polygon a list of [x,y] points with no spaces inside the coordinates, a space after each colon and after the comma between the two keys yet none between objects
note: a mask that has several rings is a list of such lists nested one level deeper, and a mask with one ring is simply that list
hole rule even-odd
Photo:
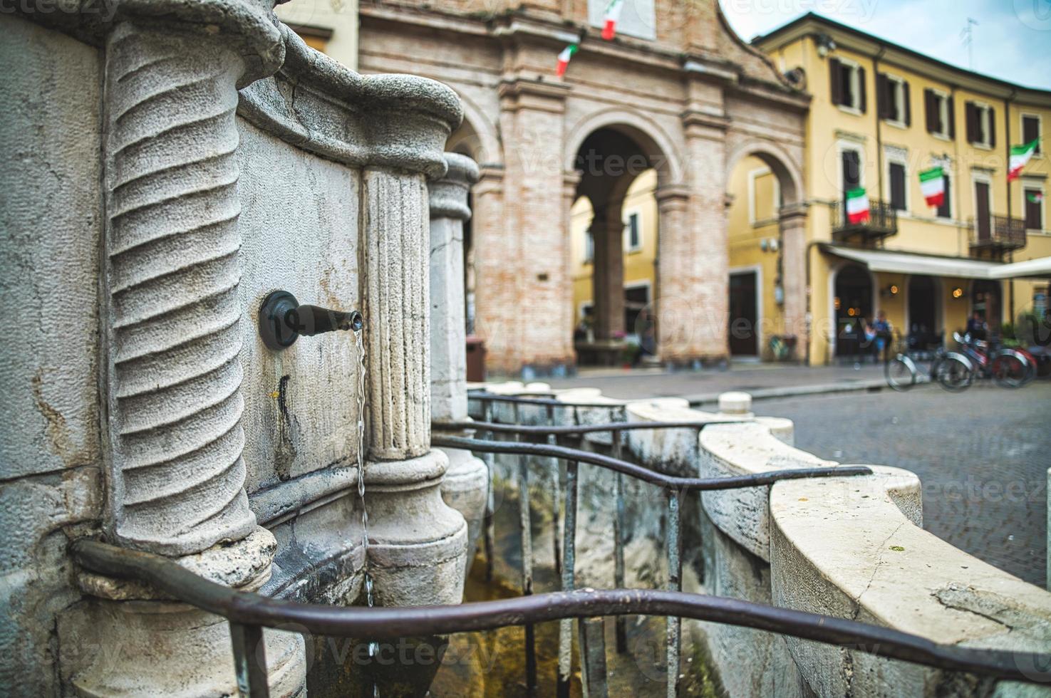
[{"label": "yellow building with dark shutters and Italian flags at right", "polygon": [[[858,351],[859,317],[885,312],[902,338],[935,342],[978,312],[996,330],[1045,307],[1048,279],[995,280],[994,267],[1051,255],[1044,203],[1049,159],[1038,152],[1008,183],[1012,145],[1044,136],[1051,91],[948,65],[807,15],[754,41],[812,96],[801,204],[806,211],[805,327],[785,327],[778,177],[746,158],[729,180],[731,353],[769,354],[772,334],[829,363]],[[1043,150],[1047,144],[1042,143]],[[929,207],[919,173],[945,172],[946,200]],[[868,221],[844,218],[863,187]],[[750,304],[755,304],[754,306]],[[738,306],[735,309],[735,305]],[[743,310],[741,308],[744,308]],[[734,331],[741,315],[754,333]],[[745,323],[745,324],[748,324]],[[743,337],[743,338],[742,338]],[[806,341],[808,337],[808,341]]]}]

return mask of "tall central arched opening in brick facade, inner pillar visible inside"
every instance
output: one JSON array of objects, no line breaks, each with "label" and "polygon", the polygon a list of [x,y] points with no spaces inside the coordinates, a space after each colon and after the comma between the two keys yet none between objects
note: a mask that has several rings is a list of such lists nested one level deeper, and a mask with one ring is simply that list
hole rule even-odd
[{"label": "tall central arched opening in brick facade, inner pillar visible inside", "polygon": [[631,127],[601,127],[577,150],[570,210],[573,345],[577,363],[638,365],[657,358],[663,157]]}]

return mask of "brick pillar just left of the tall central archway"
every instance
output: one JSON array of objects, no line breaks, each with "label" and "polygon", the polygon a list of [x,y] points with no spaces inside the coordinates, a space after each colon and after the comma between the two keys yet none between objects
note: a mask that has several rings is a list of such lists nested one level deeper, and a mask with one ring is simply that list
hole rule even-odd
[{"label": "brick pillar just left of the tall central archway", "polygon": [[504,81],[499,88],[500,125],[509,144],[500,234],[516,246],[507,249],[498,264],[518,261],[517,293],[508,305],[487,312],[502,314],[514,327],[513,344],[507,345],[504,355],[489,354],[490,367],[501,366],[509,373],[530,367],[542,375],[573,364],[573,286],[560,138],[568,91],[564,84],[524,78]]}]

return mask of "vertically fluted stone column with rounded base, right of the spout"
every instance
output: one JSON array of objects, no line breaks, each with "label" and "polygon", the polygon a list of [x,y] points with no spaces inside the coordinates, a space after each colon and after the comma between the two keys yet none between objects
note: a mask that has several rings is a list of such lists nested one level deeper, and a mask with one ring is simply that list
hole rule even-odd
[{"label": "vertically fluted stone column with rounded base, right of the spout", "polygon": [[368,167],[369,570],[379,605],[458,603],[468,529],[431,449],[430,223],[423,173]]}]

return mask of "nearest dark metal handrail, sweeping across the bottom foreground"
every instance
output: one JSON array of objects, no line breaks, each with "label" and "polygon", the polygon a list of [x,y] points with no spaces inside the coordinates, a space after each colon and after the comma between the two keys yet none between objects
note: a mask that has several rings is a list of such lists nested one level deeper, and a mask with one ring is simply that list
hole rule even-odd
[{"label": "nearest dark metal handrail, sweeping across the bottom foreground", "polygon": [[[457,605],[335,607],[235,591],[162,555],[98,540],[77,540],[71,543],[70,552],[74,559],[91,572],[146,581],[180,601],[223,616],[230,621],[231,629],[241,625],[287,630],[289,623],[295,623],[318,635],[387,639],[494,630],[564,618],[654,615],[753,628],[825,644],[849,645],[866,654],[914,664],[1031,683],[1039,682],[1038,678],[1027,674],[1024,668],[1046,666],[1051,662],[1051,655],[939,644],[919,635],[854,620],[687,592],[585,589]],[[257,661],[261,666],[256,669],[263,669],[265,676],[262,646],[244,649],[248,650],[248,656],[236,657],[236,665]],[[254,682],[243,687],[248,687],[253,697],[267,695],[265,683],[262,687]]]}]

